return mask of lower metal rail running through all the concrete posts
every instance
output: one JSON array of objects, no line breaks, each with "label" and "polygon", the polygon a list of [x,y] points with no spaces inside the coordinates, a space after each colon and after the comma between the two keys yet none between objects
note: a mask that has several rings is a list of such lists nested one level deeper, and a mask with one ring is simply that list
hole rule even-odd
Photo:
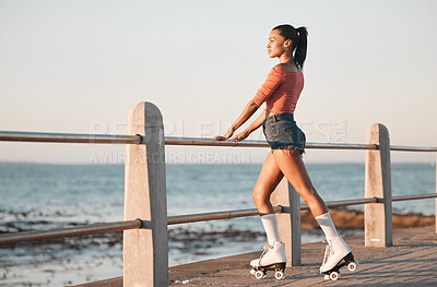
[{"label": "lower metal rail running through all the concrete posts", "polygon": [[[414,195],[401,195],[393,196],[392,201],[411,201],[411,200],[424,200],[424,199],[434,199],[437,198],[437,193],[424,193],[424,194],[414,194]],[[380,202],[377,198],[370,199],[356,199],[356,200],[345,200],[345,201],[332,201],[327,202],[327,206],[332,207],[341,207],[341,206],[350,206],[350,205],[358,205],[358,204],[369,204],[369,203],[378,203]],[[274,206],[275,213],[287,213],[285,207]],[[300,205],[300,211],[309,210],[306,204]],[[167,225],[176,225],[176,224],[188,224],[188,223],[197,223],[197,222],[208,222],[208,220],[216,220],[216,219],[229,219],[237,217],[248,217],[259,215],[256,208],[250,210],[240,210],[240,211],[227,211],[227,212],[214,212],[214,213],[200,213],[200,214],[188,214],[188,215],[178,215],[178,216],[169,216],[167,218]],[[117,232],[128,229],[138,229],[138,228],[147,228],[147,223],[141,219],[127,220],[127,222],[118,222],[118,223],[106,223],[106,224],[94,224],[79,227],[68,227],[68,228],[56,228],[50,230],[40,230],[40,231],[26,231],[26,232],[14,232],[0,236],[0,246],[1,244],[13,244],[20,242],[27,241],[37,241],[44,239],[54,239],[54,238],[62,238],[62,237],[75,237],[75,236],[85,236],[85,235],[95,235],[95,234],[105,234],[105,232]]]}]

